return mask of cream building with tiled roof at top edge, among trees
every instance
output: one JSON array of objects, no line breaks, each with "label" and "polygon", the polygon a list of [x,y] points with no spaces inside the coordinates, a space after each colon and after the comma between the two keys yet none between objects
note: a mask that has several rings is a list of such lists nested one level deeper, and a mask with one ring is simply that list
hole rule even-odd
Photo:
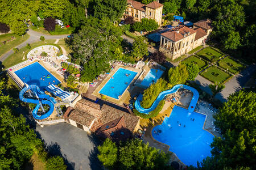
[{"label": "cream building with tiled roof at top edge, among trees", "polygon": [[141,2],[128,0],[125,15],[133,16],[135,21],[143,18],[154,19],[159,25],[162,22],[163,5],[157,1],[144,5]]}]

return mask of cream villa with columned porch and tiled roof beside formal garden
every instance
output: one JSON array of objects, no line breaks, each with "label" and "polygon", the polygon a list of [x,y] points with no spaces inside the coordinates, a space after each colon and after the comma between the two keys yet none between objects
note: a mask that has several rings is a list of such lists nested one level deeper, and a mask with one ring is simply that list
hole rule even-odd
[{"label": "cream villa with columned porch and tiled roof beside formal garden", "polygon": [[170,59],[176,59],[199,45],[205,44],[212,31],[210,20],[200,20],[193,28],[184,25],[160,34],[159,50]]}]

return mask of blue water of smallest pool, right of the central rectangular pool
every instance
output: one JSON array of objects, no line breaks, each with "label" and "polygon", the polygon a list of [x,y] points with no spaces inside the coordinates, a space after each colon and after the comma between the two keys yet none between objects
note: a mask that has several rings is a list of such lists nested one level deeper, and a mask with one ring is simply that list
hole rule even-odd
[{"label": "blue water of smallest pool, right of the central rectangular pool", "polygon": [[146,88],[150,87],[150,85],[153,82],[156,82],[162,76],[162,74],[163,74],[162,70],[150,69],[150,71],[148,71],[147,75],[141,82],[141,85]]}]

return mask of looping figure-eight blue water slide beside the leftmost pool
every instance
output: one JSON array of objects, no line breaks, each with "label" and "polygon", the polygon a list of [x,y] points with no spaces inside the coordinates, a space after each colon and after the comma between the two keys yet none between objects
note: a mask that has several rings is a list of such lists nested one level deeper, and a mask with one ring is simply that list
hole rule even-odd
[{"label": "looping figure-eight blue water slide beside the leftmost pool", "polygon": [[[35,94],[38,99],[29,99],[29,98],[27,99],[27,98],[25,98],[24,93],[28,90],[32,91],[33,94]],[[44,94],[44,92],[40,91],[40,88],[36,85],[30,85],[30,86],[24,87],[19,92],[19,99],[21,101],[26,102],[26,103],[36,104],[36,107],[34,108],[32,114],[33,114],[33,117],[38,119],[38,120],[42,120],[44,118],[49,117],[52,114],[53,110],[54,110],[54,105],[56,104],[56,100],[53,97]],[[44,99],[46,99],[46,100],[44,100]],[[39,115],[37,113],[38,113],[38,109],[41,107],[41,104],[49,105],[49,111],[42,114],[42,115]]]}]

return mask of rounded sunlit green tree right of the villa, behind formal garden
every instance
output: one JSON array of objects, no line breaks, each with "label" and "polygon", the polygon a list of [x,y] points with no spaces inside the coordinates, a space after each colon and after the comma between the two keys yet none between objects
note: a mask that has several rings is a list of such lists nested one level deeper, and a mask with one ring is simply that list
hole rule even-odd
[{"label": "rounded sunlit green tree right of the villa, behind formal garden", "polygon": [[222,40],[225,49],[237,49],[241,46],[239,32],[230,32],[227,37]]}]

